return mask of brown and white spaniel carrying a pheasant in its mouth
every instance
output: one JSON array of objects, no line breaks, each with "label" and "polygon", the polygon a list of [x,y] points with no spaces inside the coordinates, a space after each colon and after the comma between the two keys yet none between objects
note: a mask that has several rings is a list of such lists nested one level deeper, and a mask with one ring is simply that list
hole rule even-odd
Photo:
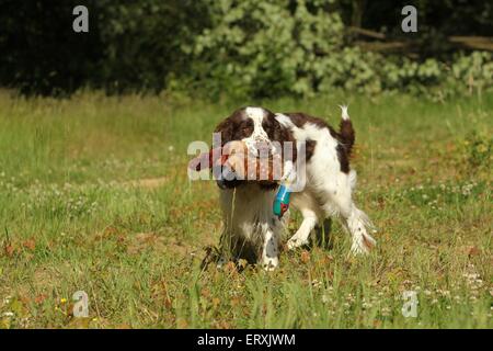
[{"label": "brown and white spaniel carrying a pheasant in its mouth", "polygon": [[[240,140],[252,154],[259,152],[255,149],[259,144],[294,141],[295,152],[283,159],[284,173],[291,178],[301,177],[294,165],[301,156],[299,145],[305,146],[305,186],[291,193],[290,202],[303,219],[287,241],[289,249],[308,244],[310,233],[330,216],[339,216],[352,235],[353,253],[366,253],[376,244],[368,234],[368,217],[352,199],[356,172],[349,169],[349,155],[355,133],[347,106],[341,107],[339,132],[305,113],[273,113],[263,107],[239,109],[216,127],[215,132],[221,134],[221,146]],[[273,213],[278,182],[231,177],[219,177],[217,182],[223,214],[221,244],[227,245],[236,259],[243,258],[259,262],[267,270],[275,269],[288,220],[288,213],[282,218]]]}]

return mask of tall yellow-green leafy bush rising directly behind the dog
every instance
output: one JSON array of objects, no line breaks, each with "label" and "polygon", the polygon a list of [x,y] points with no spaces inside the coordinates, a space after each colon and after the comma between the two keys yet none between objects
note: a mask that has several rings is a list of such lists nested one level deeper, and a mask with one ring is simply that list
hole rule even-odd
[{"label": "tall yellow-green leafy bush rising directly behind the dog", "polygon": [[214,93],[307,94],[326,71],[326,54],[342,48],[343,23],[323,2],[210,1],[213,27],[196,38],[194,72]]}]

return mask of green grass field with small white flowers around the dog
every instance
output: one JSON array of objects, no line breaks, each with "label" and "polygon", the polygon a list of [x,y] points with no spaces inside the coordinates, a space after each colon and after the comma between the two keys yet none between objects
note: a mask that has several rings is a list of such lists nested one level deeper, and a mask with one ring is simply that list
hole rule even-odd
[{"label": "green grass field with small white flowers around the dog", "polygon": [[[334,220],[331,248],[285,251],[267,273],[200,270],[220,213],[215,183],[188,181],[186,148],[237,105],[0,92],[0,328],[492,328],[493,95],[248,104],[337,125],[342,102],[378,247],[349,257]],[[77,291],[89,318],[71,314]]]}]

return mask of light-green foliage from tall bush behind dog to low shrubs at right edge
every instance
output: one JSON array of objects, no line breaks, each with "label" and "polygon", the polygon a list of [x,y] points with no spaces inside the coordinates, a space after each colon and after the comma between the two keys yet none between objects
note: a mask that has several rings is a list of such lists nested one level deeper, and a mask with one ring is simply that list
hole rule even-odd
[{"label": "light-green foliage from tall bush behind dog to low shrubs at right edge", "polygon": [[447,64],[345,45],[340,14],[328,11],[332,2],[211,1],[211,27],[196,37],[193,48],[184,47],[194,57],[185,86],[196,82],[213,97],[310,97],[343,88],[436,100],[492,88],[490,53],[458,54]]}]

